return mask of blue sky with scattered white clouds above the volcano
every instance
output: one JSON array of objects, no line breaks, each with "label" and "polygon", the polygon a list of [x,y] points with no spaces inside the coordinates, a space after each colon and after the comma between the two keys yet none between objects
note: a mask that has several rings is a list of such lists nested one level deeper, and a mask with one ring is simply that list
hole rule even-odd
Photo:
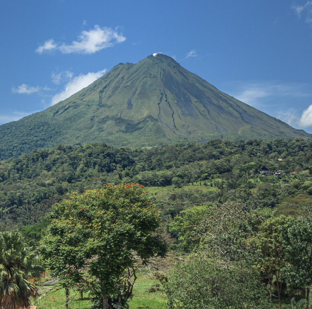
[{"label": "blue sky with scattered white clouds above the volcano", "polygon": [[312,1],[4,1],[0,124],[162,52],[312,133]]}]

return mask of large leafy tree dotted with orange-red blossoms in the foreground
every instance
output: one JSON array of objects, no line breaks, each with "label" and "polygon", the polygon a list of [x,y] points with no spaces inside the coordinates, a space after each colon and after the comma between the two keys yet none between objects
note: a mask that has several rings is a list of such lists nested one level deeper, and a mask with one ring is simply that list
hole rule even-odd
[{"label": "large leafy tree dotted with orange-red blossoms in the foreground", "polygon": [[79,284],[104,309],[126,307],[138,263],[163,256],[159,213],[135,183],[106,184],[53,206],[41,240],[42,257],[64,286]]}]

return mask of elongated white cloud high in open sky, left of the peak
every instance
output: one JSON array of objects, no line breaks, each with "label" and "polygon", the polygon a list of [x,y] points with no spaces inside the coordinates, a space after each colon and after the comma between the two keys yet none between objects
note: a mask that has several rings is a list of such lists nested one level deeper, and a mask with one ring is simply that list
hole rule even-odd
[{"label": "elongated white cloud high in open sky, left of the peak", "polygon": [[63,54],[83,53],[93,54],[107,47],[112,47],[116,43],[124,42],[126,38],[115,30],[107,27],[101,28],[98,25],[90,31],[82,31],[78,40],[71,44],[56,43],[53,39],[47,40],[43,45],[36,49],[36,52],[42,54],[46,51],[59,50]]}]

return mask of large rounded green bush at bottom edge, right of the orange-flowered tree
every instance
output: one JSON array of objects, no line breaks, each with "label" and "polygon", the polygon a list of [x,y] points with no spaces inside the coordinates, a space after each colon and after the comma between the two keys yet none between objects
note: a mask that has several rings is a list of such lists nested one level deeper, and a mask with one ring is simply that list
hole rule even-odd
[{"label": "large rounded green bush at bottom edge, right of the orange-flowered tree", "polygon": [[169,308],[266,309],[267,294],[254,269],[194,254],[178,262],[165,284]]}]

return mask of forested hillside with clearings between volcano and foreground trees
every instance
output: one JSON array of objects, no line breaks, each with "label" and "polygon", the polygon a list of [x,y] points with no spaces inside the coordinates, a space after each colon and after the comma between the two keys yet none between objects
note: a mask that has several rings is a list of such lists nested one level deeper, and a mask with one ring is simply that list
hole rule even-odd
[{"label": "forested hillside with clearings between volcano and foreground trees", "polygon": [[[254,174],[267,164],[270,175]],[[226,201],[291,212],[299,202],[310,204],[311,169],[312,140],[301,138],[211,140],[149,149],[58,145],[1,162],[0,220],[3,227],[34,224],[71,191],[131,181],[159,188],[147,190],[169,221],[190,205]],[[280,176],[273,175],[277,170]]]}]

